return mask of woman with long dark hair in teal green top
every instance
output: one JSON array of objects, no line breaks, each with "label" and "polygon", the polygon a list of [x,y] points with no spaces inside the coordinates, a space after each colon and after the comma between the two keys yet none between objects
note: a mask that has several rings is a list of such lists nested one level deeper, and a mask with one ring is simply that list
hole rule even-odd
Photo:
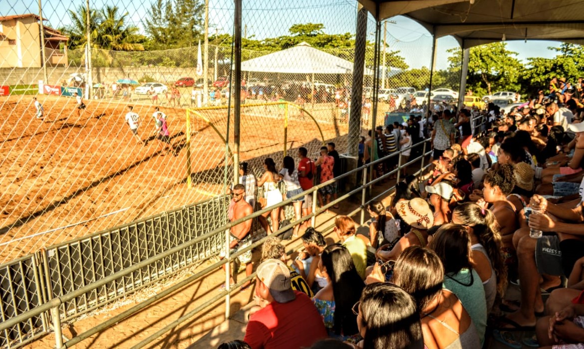
[{"label": "woman with long dark hair in teal green top", "polygon": [[444,287],[463,303],[482,342],[486,330],[486,297],[481,278],[471,263],[471,240],[462,225],[444,224],[428,245],[444,266]]}]

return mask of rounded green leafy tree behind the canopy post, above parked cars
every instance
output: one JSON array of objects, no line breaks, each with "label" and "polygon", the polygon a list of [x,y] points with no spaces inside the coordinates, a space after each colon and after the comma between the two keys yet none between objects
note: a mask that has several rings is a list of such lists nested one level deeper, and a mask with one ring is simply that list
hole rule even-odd
[{"label": "rounded green leafy tree behind the canopy post, above parked cars", "polygon": [[[449,71],[460,75],[461,49],[451,48],[448,58]],[[519,78],[523,65],[515,57],[517,53],[507,50],[506,43],[492,43],[475,46],[470,49],[468,62],[467,89],[477,94],[497,90],[520,89]]]}]

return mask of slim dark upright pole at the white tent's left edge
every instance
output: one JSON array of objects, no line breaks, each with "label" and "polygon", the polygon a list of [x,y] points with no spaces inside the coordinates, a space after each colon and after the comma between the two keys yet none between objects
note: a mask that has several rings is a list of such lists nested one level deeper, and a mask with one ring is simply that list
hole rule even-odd
[{"label": "slim dark upright pole at the white tent's left edge", "polygon": [[[231,84],[231,95],[233,99],[233,183],[239,183],[239,120],[241,119],[241,0],[234,0],[235,2],[235,18],[234,18],[234,59],[235,71],[234,81]],[[227,139],[229,142],[229,139]]]}]

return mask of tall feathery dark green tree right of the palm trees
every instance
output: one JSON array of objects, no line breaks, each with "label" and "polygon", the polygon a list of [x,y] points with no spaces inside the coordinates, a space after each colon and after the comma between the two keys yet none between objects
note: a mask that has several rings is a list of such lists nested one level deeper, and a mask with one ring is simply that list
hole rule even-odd
[{"label": "tall feathery dark green tree right of the palm trees", "polygon": [[156,0],[144,28],[150,50],[195,46],[204,25],[205,5],[200,0]]}]

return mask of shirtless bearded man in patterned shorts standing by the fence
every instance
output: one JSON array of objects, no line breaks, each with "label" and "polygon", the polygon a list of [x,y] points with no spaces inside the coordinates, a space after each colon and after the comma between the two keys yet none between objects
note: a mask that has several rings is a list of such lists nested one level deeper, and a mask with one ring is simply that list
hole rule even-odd
[{"label": "shirtless bearded man in patterned shorts standing by the fence", "polygon": [[[233,190],[231,191],[231,201],[229,203],[229,209],[227,211],[227,217],[229,218],[230,222],[237,221],[240,218],[244,218],[248,215],[253,213],[253,208],[250,204],[245,201],[245,186],[243,184],[235,184]],[[237,252],[239,249],[244,249],[252,244],[252,236],[251,236],[251,228],[252,228],[252,219],[248,219],[247,221],[240,223],[238,225],[232,226],[230,229],[230,234],[234,238],[229,243],[229,248],[231,253]],[[219,253],[219,258],[224,259],[227,256],[227,250],[225,249],[225,243],[223,243],[223,247],[221,248],[221,252]],[[245,264],[245,276],[248,277],[252,274],[253,264],[252,264],[252,251],[246,251],[243,254],[237,256],[237,259]],[[223,264],[221,266],[223,270],[227,272],[227,264]],[[235,284],[235,280],[233,280],[233,273],[230,270],[229,275],[229,282],[230,284]],[[242,289],[245,289],[251,284],[250,281],[246,282],[242,285]],[[225,289],[226,285],[221,285],[221,290]]]}]

